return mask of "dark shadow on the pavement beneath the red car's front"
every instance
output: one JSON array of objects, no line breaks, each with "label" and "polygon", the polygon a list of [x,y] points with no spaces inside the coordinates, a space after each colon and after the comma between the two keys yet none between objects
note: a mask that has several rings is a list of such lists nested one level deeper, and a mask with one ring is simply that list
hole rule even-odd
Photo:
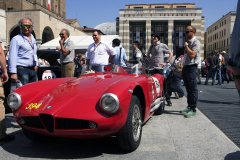
[{"label": "dark shadow on the pavement beneath the red car's front", "polygon": [[52,137],[48,141],[34,142],[25,137],[22,129],[12,116],[5,118],[7,128],[13,129],[11,134],[15,140],[1,145],[12,155],[24,158],[44,159],[80,159],[92,157],[104,157],[104,154],[128,154],[117,143],[116,137],[98,139],[69,139]]}]

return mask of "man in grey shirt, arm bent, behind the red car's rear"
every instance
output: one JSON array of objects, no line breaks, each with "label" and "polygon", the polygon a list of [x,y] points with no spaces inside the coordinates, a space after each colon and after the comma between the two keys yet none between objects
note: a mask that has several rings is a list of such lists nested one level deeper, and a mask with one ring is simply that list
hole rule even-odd
[{"label": "man in grey shirt, arm bent, behind the red car's rear", "polygon": [[[163,74],[163,71],[160,69],[170,62],[171,58],[173,57],[173,53],[166,44],[160,42],[159,34],[153,33],[152,40],[153,44],[149,47],[147,53],[148,61],[150,62],[150,68],[155,68],[157,73]],[[165,54],[169,54],[167,62],[164,62]]]}]

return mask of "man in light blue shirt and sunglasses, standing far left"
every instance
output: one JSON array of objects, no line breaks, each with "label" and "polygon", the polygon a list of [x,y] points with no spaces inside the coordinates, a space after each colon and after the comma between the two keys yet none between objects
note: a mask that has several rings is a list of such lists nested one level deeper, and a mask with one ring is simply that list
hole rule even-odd
[{"label": "man in light blue shirt and sunglasses, standing far left", "polygon": [[38,81],[38,57],[36,40],[33,37],[33,21],[23,18],[19,21],[21,33],[12,38],[9,49],[9,72],[11,81],[27,84]]}]

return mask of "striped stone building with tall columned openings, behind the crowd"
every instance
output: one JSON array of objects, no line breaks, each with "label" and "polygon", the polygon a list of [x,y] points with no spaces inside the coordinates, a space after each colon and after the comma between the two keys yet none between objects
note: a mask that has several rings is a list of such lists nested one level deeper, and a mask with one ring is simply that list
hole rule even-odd
[{"label": "striped stone building with tall columned openings, behind the crowd", "polygon": [[183,44],[186,40],[185,29],[196,27],[196,38],[201,42],[201,56],[204,56],[204,25],[202,8],[195,8],[193,3],[181,4],[137,4],[126,5],[119,10],[116,19],[117,34],[122,41],[129,58],[132,57],[132,43],[139,41],[143,53],[152,44],[151,34],[159,33],[161,43],[168,45],[177,57],[183,55]]}]

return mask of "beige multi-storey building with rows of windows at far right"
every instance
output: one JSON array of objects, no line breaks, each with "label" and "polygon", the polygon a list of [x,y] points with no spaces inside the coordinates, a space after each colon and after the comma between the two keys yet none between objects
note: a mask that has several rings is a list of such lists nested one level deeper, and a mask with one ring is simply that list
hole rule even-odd
[{"label": "beige multi-storey building with rows of windows at far right", "polygon": [[235,23],[236,11],[231,11],[207,28],[206,54],[214,50],[230,53],[231,35]]}]

